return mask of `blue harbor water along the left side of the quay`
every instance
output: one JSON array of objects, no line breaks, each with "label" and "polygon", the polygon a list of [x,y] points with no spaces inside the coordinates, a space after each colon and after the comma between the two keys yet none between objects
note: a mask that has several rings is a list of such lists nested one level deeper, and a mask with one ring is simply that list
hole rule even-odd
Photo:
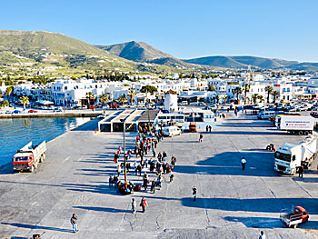
[{"label": "blue harbor water along the left side of the quay", "polygon": [[16,150],[30,141],[48,142],[87,121],[80,117],[0,119],[0,166],[11,162]]}]

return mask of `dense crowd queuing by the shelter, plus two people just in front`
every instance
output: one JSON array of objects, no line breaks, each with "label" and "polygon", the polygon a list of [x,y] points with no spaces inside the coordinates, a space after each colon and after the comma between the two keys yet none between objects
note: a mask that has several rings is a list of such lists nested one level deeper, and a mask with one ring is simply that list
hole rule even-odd
[{"label": "dense crowd queuing by the shelter, plus two people just in front", "polygon": [[[139,125],[139,131],[135,137],[134,147],[123,151],[121,146],[114,154],[114,164],[116,164],[116,174],[109,177],[109,187],[115,187],[118,193],[134,194],[140,191],[142,187],[145,192],[150,189],[151,193],[155,193],[156,189],[162,187],[163,174],[169,176],[169,182],[174,181],[174,166],[176,157],[174,155],[168,159],[165,151],[157,152],[157,144],[164,139],[163,132],[159,129],[155,131],[152,125]],[[147,131],[148,130],[148,131]],[[124,165],[124,157],[126,164]],[[123,159],[123,160],[120,160]],[[121,162],[120,162],[121,161]],[[124,166],[127,174],[135,174],[142,177],[142,184],[134,184],[131,181],[127,185],[120,180],[120,175],[124,173]],[[136,202],[132,201],[132,211],[135,210]],[[147,203],[142,199],[140,206],[145,211]]]}]

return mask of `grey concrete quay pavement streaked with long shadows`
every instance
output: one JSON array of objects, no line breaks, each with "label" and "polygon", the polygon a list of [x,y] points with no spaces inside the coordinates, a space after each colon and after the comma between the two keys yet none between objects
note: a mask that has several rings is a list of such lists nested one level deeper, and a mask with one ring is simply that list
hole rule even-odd
[{"label": "grey concrete quay pavement streaked with long shadows", "polygon": [[[306,171],[303,179],[276,174],[273,153],[264,150],[267,144],[298,143],[303,137],[277,131],[255,116],[228,115],[214,132],[204,133],[202,144],[198,134],[165,138],[157,152],[176,156],[174,182],[164,175],[155,194],[142,190],[123,196],[107,183],[115,174],[113,156],[123,135],[94,134],[95,124],[48,144],[46,161],[35,174],[0,175],[1,238],[42,232],[44,238],[258,238],[261,230],[268,238],[316,238],[316,170]],[[134,134],[127,138],[132,146]],[[128,177],[141,183],[141,177]],[[145,214],[139,207],[143,196],[149,204]],[[130,211],[132,197],[137,214]],[[310,222],[298,229],[279,221],[280,210],[293,205],[310,214]],[[71,230],[73,213],[79,219],[77,234]]]}]

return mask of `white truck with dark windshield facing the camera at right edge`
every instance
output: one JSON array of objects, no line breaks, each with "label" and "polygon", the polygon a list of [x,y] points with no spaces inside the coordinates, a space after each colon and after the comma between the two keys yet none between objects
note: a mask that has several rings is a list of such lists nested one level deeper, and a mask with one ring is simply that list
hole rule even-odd
[{"label": "white truck with dark windshield facing the camera at right edge", "polygon": [[284,174],[295,174],[298,167],[309,168],[317,157],[317,137],[307,136],[299,144],[283,144],[274,154],[274,169]]}]

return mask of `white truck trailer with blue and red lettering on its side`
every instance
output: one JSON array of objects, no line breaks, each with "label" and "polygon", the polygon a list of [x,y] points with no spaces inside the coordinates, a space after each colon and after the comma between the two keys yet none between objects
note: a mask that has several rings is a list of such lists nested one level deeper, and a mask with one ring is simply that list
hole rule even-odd
[{"label": "white truck trailer with blue and red lettering on its side", "polygon": [[314,118],[312,116],[277,115],[277,129],[286,130],[291,134],[313,134]]}]

